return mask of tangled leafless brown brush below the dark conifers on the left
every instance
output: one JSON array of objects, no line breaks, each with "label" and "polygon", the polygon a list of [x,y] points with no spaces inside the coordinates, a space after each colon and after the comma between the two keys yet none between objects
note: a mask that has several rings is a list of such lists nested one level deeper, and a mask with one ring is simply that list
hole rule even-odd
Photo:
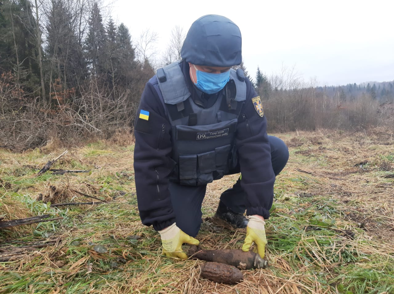
[{"label": "tangled leafless brown brush below the dark conifers on the left", "polygon": [[[110,138],[119,130],[129,133],[138,100],[129,90],[106,93],[98,83],[81,88],[80,97],[57,99],[49,107],[31,99],[12,83],[0,82],[0,145],[25,150],[54,140],[72,145],[89,138]],[[62,92],[63,93],[63,92]],[[56,93],[55,93],[56,94]],[[54,96],[56,97],[56,95]]]}]

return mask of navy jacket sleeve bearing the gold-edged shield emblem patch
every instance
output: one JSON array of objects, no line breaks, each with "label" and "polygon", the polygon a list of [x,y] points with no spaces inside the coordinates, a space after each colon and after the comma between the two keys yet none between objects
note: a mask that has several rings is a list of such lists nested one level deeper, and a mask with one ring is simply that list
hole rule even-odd
[{"label": "navy jacket sleeve bearing the gold-edged shield emblem patch", "polygon": [[[261,117],[252,102],[257,97],[251,82],[246,79],[247,95],[238,120],[236,147],[241,167],[241,186],[247,199],[247,215],[269,217],[273,202],[275,174],[271,164],[271,147],[267,135],[267,119]],[[264,105],[263,105],[264,107]]]}]

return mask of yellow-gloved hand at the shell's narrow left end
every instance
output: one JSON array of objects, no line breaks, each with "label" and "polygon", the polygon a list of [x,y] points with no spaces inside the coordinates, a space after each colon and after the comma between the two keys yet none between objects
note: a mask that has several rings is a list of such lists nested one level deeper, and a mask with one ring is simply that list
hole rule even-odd
[{"label": "yellow-gloved hand at the shell's narrow left end", "polygon": [[188,234],[182,232],[174,222],[171,226],[159,231],[162,237],[163,254],[169,257],[187,259],[188,255],[182,252],[182,244],[188,243],[191,245],[198,245],[200,241],[190,237]]}]

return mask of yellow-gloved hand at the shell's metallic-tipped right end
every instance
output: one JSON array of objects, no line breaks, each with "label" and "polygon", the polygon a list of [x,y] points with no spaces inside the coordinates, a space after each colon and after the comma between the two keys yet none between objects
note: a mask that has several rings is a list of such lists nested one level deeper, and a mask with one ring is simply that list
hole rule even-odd
[{"label": "yellow-gloved hand at the shell's metallic-tipped right end", "polygon": [[248,252],[253,243],[256,244],[256,253],[264,258],[266,252],[267,238],[264,225],[265,221],[254,215],[248,216],[249,222],[246,227],[245,242],[242,245],[242,251]]}]

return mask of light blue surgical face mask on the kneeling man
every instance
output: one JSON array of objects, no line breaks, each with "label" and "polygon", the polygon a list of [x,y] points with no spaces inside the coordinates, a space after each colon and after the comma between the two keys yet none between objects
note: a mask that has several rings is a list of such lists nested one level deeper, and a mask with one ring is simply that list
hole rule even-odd
[{"label": "light blue surgical face mask on the kneeling man", "polygon": [[[222,72],[220,74],[212,74],[209,72],[203,72],[197,70],[196,66],[193,64],[196,70],[197,83],[193,79],[194,85],[206,94],[214,94],[219,92],[224,86],[230,81],[230,70],[227,72]],[[191,75],[193,77],[193,75]]]}]

